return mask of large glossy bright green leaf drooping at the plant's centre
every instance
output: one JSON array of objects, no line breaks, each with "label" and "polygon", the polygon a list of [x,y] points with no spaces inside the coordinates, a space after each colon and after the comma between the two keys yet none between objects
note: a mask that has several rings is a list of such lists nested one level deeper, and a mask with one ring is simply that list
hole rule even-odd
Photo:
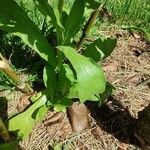
[{"label": "large glossy bright green leaf drooping at the plant's centre", "polygon": [[75,69],[78,97],[81,102],[89,100],[94,94],[101,94],[105,91],[105,76],[99,65],[78,54],[72,47],[58,46],[57,48],[64,53]]}]

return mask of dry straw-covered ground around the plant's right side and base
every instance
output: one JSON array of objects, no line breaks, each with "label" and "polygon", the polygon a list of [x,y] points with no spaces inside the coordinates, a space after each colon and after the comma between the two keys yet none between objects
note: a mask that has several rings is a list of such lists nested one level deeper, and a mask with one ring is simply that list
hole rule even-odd
[{"label": "dry straw-covered ground around the plant's right side and base", "polygon": [[[143,146],[141,137],[135,135],[135,124],[138,112],[150,103],[150,44],[127,31],[101,33],[118,38],[113,54],[103,62],[108,80],[116,87],[114,95],[100,108],[88,104],[91,128],[78,134],[72,132],[65,113],[49,111],[20,143],[21,149],[48,150],[54,143],[63,144],[65,150],[134,150]],[[10,103],[9,111],[16,111],[16,106],[17,102]]]}]

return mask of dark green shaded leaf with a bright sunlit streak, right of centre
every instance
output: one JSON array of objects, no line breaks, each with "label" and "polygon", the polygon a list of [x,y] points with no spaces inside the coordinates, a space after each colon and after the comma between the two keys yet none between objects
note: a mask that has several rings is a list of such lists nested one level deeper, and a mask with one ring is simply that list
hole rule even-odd
[{"label": "dark green shaded leaf with a bright sunlit streak, right of centre", "polygon": [[98,62],[108,57],[116,47],[117,40],[110,37],[101,37],[94,41],[83,53],[84,56]]}]

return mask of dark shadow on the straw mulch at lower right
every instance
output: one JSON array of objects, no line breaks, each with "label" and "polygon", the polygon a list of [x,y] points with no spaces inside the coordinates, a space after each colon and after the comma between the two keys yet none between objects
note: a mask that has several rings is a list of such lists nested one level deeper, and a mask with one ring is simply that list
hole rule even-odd
[{"label": "dark shadow on the straw mulch at lower right", "polygon": [[[133,144],[142,149],[147,149],[146,146],[149,146],[149,143],[144,140],[142,135],[144,132],[150,131],[150,121],[147,123],[146,131],[144,129],[140,129],[140,134],[137,132],[139,130],[139,124],[143,124],[141,118],[145,115],[144,112],[147,108],[145,108],[142,112],[139,112],[140,117],[138,119],[133,118],[128,109],[123,108],[123,106],[114,98],[111,98],[107,104],[102,105],[100,108],[97,106],[91,107],[91,105],[88,106],[88,108],[100,128],[113,135],[120,142]],[[136,135],[138,134],[138,137],[135,136],[135,133]]]}]

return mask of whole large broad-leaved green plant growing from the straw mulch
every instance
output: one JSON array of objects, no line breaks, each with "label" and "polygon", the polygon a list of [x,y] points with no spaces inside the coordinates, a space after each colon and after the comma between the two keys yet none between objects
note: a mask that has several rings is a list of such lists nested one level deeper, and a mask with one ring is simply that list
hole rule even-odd
[{"label": "whole large broad-leaved green plant growing from the straw mulch", "polygon": [[[93,12],[84,18],[89,6]],[[101,101],[101,94],[107,93],[105,75],[98,62],[111,54],[116,39],[99,37],[82,47],[101,8],[100,3],[91,0],[75,0],[70,9],[66,9],[64,0],[0,0],[0,29],[19,36],[45,60],[46,89],[30,97],[32,105],[27,110],[8,120],[8,130],[19,138],[29,135],[33,124],[44,117],[49,107],[65,111],[74,100]],[[43,36],[48,34],[47,27],[54,32],[51,44]],[[75,41],[82,29],[83,35]]]}]

